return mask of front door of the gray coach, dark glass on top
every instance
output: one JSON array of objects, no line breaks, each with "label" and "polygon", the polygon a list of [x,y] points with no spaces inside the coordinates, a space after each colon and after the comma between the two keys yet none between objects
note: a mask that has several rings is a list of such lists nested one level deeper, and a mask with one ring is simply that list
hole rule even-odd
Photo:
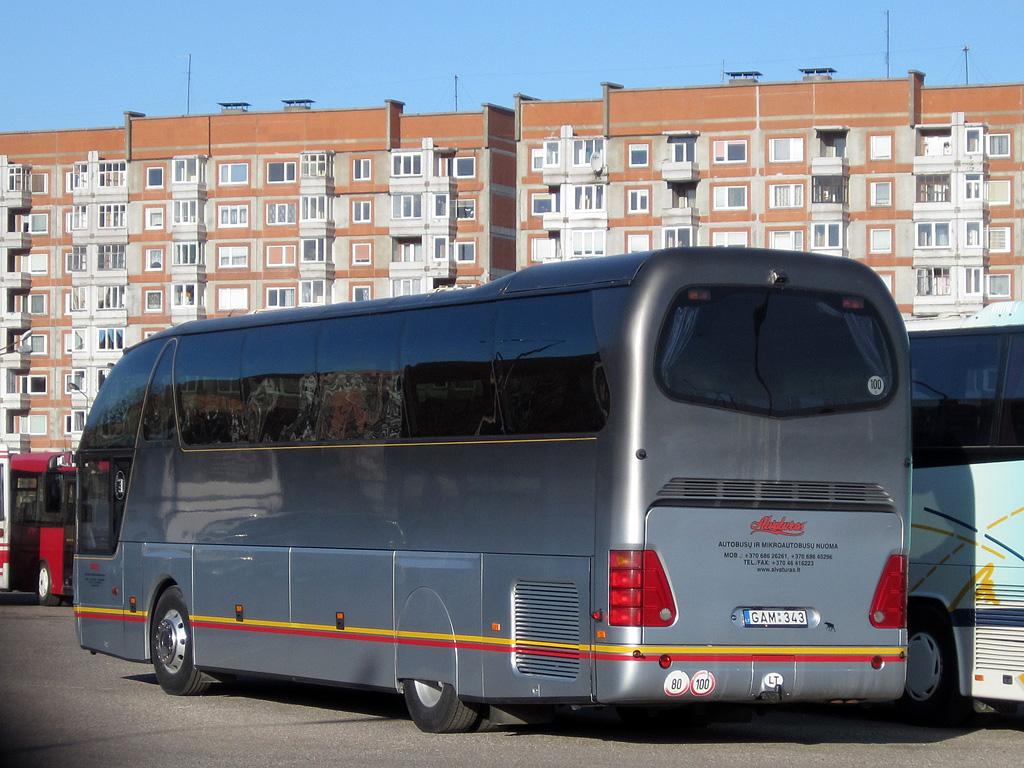
[{"label": "front door of the gray coach, dark glass on top", "polygon": [[[123,567],[118,548],[131,459],[84,456],[79,463],[75,604],[85,648],[124,653]],[[142,621],[142,616],[139,616]]]}]

